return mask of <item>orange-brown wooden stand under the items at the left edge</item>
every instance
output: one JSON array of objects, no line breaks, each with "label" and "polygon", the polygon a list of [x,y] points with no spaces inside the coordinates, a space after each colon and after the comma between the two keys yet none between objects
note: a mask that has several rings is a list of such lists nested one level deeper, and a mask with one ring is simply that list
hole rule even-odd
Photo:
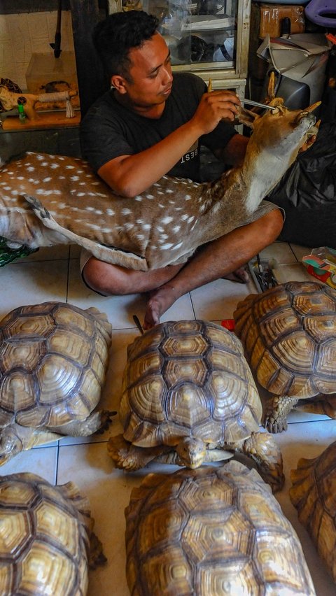
[{"label": "orange-brown wooden stand under the items at the left edge", "polygon": [[80,112],[76,112],[73,118],[66,118],[66,112],[59,110],[55,112],[39,112],[34,120],[25,119],[25,122],[19,120],[18,116],[8,116],[3,120],[3,130],[31,130],[31,129],[49,129],[58,127],[78,126],[80,122]]}]

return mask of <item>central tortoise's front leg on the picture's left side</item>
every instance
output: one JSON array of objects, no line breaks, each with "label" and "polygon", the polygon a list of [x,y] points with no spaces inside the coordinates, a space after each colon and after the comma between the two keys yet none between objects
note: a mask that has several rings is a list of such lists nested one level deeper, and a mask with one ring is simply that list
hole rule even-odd
[{"label": "central tortoise's front leg on the picture's left side", "polygon": [[122,434],[111,437],[107,444],[107,450],[116,467],[127,471],[139,470],[145,467],[149,462],[155,460],[155,457],[170,449],[161,445],[158,447],[137,447],[126,441]]}]

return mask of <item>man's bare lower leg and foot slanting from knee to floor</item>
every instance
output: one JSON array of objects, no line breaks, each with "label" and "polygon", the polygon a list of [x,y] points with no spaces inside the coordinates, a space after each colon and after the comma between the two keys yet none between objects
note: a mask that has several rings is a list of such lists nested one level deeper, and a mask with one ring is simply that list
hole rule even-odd
[{"label": "man's bare lower leg and foot slanting from knee to floor", "polygon": [[279,236],[283,218],[279,210],[270,211],[259,220],[239,227],[225,236],[201,247],[174,278],[151,293],[144,329],[160,322],[167,308],[201,285],[221,278],[245,264]]}]

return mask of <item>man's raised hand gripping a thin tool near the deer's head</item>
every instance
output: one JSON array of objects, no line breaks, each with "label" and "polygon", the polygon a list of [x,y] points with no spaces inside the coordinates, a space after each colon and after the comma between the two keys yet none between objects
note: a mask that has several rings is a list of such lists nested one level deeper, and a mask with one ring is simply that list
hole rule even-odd
[{"label": "man's raised hand gripping a thin tool near the deer's head", "polygon": [[204,93],[192,121],[201,129],[201,134],[213,131],[218,122],[233,122],[238,115],[239,97],[233,91],[211,91]]}]

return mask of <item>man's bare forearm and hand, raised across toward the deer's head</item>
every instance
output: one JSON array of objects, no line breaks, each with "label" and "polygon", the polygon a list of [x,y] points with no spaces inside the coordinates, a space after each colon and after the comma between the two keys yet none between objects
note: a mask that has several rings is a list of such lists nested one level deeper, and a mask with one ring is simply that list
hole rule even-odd
[{"label": "man's bare forearm and hand, raised across toward the deer's head", "polygon": [[233,92],[205,93],[189,122],[145,151],[111,159],[98,170],[99,176],[118,194],[134,197],[172,169],[195,141],[214,130],[218,122],[233,122],[238,105],[239,99]]}]

